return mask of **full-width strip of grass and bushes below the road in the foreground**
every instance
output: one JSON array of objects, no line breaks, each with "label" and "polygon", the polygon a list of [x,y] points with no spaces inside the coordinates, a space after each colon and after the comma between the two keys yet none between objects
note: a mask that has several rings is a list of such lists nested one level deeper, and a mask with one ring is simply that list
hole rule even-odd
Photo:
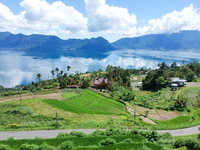
[{"label": "full-width strip of grass and bushes below the road in the foreground", "polygon": [[96,130],[91,134],[71,131],[59,133],[52,139],[11,139],[0,141],[1,149],[200,149],[199,134],[196,136],[172,137],[168,132],[139,131],[137,129]]}]

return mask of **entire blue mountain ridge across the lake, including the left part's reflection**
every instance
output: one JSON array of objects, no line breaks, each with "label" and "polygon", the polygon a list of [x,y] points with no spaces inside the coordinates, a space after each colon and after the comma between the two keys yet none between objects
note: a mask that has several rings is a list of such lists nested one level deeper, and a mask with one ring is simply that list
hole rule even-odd
[{"label": "entire blue mountain ridge across the lake, including the left part's reflection", "polygon": [[103,37],[63,40],[53,35],[0,32],[0,50],[21,50],[24,55],[36,58],[71,56],[101,59],[107,56],[105,53],[117,49],[200,50],[200,32],[183,30],[171,34],[148,34],[121,38],[113,43]]}]

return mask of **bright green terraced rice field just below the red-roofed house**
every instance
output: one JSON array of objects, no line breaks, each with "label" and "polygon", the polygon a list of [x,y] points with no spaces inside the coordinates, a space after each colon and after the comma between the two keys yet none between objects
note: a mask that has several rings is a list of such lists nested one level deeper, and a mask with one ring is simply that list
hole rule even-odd
[{"label": "bright green terraced rice field just below the red-roofed house", "polygon": [[108,99],[90,90],[80,92],[81,96],[69,98],[66,101],[55,99],[44,100],[45,103],[54,107],[84,114],[127,114],[124,104]]}]

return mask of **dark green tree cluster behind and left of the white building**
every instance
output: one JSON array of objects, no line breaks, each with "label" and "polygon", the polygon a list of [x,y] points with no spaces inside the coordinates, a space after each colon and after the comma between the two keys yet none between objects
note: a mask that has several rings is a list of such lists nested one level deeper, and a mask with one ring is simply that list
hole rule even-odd
[{"label": "dark green tree cluster behind and left of the white building", "polygon": [[159,69],[151,70],[142,81],[143,90],[158,91],[164,87],[170,86],[171,77],[179,77],[187,81],[196,81],[200,74],[200,63],[194,60],[191,63],[178,66],[176,62],[167,66],[165,62],[158,64]]}]

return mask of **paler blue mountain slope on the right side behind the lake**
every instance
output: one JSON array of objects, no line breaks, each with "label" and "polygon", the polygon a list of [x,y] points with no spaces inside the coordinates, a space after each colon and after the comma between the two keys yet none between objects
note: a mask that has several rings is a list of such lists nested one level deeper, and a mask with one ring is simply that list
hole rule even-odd
[{"label": "paler blue mountain slope on the right side behind the lake", "polygon": [[199,31],[180,31],[172,34],[150,34],[135,38],[122,38],[112,43],[127,49],[200,49]]}]

